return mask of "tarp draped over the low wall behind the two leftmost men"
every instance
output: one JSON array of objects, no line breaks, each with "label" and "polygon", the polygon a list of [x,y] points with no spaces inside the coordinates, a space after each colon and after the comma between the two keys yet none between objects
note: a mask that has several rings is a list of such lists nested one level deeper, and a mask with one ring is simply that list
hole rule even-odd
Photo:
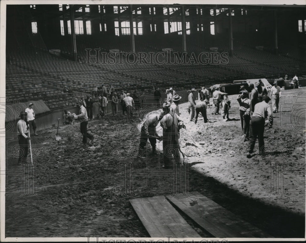
[{"label": "tarp draped over the low wall behind the two leftmost men", "polygon": [[6,104],[5,122],[7,123],[7,122],[14,121],[14,120],[18,120],[20,112],[28,108],[30,103],[34,104],[33,110],[34,110],[35,116],[45,113],[45,112],[50,112],[50,109],[45,104],[45,102],[43,102],[42,100],[28,101],[26,103],[20,102],[19,104]]}]

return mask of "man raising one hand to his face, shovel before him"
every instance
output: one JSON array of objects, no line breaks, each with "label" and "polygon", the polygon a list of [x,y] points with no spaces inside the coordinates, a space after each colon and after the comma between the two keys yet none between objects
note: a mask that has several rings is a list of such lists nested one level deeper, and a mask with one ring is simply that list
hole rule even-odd
[{"label": "man raising one hand to his face, shovel before him", "polygon": [[242,90],[237,97],[237,101],[240,105],[239,113],[241,120],[241,128],[243,134],[245,134],[245,139],[249,138],[250,131],[250,111],[251,111],[251,100],[248,98],[248,91]]}]

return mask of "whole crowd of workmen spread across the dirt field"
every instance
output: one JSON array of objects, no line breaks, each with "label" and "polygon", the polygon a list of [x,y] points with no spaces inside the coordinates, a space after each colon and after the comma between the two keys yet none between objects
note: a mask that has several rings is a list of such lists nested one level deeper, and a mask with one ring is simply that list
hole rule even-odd
[{"label": "whole crowd of workmen spread across the dirt field", "polygon": [[[105,87],[103,85],[103,87]],[[218,86],[211,86],[209,89],[201,87],[198,89],[198,101],[196,102],[195,92],[196,89],[192,88],[187,91],[188,93],[188,120],[197,124],[198,117],[203,117],[204,123],[208,123],[207,109],[214,108],[212,115],[222,115],[223,121],[230,120],[229,110],[231,108],[231,100],[228,98],[228,93],[222,92],[222,89]],[[122,114],[127,115],[129,121],[133,121],[133,112],[135,109],[135,98],[140,100],[137,90],[131,97],[130,93],[121,91],[120,97],[111,86],[110,90],[102,89],[102,92],[97,95],[99,103],[99,116],[107,116],[107,105],[111,102],[112,113],[114,116],[118,115],[117,105],[120,103],[122,108]],[[264,140],[263,133],[264,127],[272,127],[273,116],[271,107],[268,102],[272,99],[273,112],[278,112],[279,98],[282,96],[281,88],[277,82],[274,82],[274,86],[271,88],[271,92],[268,95],[267,89],[263,85],[263,82],[259,79],[257,83],[250,85],[241,85],[237,102],[239,103],[239,112],[241,118],[241,128],[243,132],[244,141],[249,141],[247,157],[252,157],[254,153],[254,146],[256,139],[259,141],[259,154],[264,154]],[[166,89],[166,99],[162,102],[161,93],[158,88],[154,89],[154,98],[156,105],[159,106],[158,112],[152,112],[147,116],[146,120],[142,124],[139,144],[140,158],[143,158],[143,150],[149,140],[152,146],[152,153],[156,154],[156,142],[157,139],[163,143],[163,167],[168,168],[171,163],[184,161],[184,154],[181,152],[179,146],[180,129],[186,128],[183,121],[180,119],[181,111],[179,103],[181,96],[179,96],[173,88]],[[212,99],[212,102],[210,101]],[[87,132],[88,120],[93,118],[92,108],[93,100],[88,95],[85,99],[83,97],[80,102],[76,104],[79,107],[79,114],[71,113],[67,110],[64,111],[63,122],[64,124],[73,124],[74,120],[80,120],[80,131],[83,135],[83,143],[87,143],[87,138],[93,140],[94,136]],[[30,126],[36,133],[35,125],[35,113],[32,109],[33,104],[29,104],[29,108],[22,112],[21,120],[17,123],[17,132],[19,136],[20,148],[25,150],[25,153],[21,153],[19,163],[22,158],[27,157],[27,144],[30,137],[28,132]],[[219,113],[221,111],[221,113]],[[162,136],[159,136],[156,131],[156,126],[160,124],[163,129]]]}]

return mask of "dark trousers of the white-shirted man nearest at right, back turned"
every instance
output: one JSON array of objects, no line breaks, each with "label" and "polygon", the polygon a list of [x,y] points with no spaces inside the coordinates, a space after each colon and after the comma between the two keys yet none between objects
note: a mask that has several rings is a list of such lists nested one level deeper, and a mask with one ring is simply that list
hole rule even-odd
[{"label": "dark trousers of the white-shirted man nearest at right, back turned", "polygon": [[259,153],[263,152],[265,142],[263,141],[263,132],[265,130],[265,119],[261,117],[252,117],[250,123],[250,143],[248,152],[253,153],[256,139],[258,137]]}]

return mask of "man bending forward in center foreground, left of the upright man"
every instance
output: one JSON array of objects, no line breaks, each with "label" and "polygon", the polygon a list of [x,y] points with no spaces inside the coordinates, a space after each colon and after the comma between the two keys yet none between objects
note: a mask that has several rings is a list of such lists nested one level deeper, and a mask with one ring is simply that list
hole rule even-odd
[{"label": "man bending forward in center foreground, left of the upright man", "polygon": [[139,154],[142,154],[148,139],[152,146],[152,154],[156,154],[156,139],[162,140],[162,137],[157,134],[156,126],[164,115],[166,115],[166,112],[158,110],[157,113],[150,114],[144,121],[140,130]]}]

